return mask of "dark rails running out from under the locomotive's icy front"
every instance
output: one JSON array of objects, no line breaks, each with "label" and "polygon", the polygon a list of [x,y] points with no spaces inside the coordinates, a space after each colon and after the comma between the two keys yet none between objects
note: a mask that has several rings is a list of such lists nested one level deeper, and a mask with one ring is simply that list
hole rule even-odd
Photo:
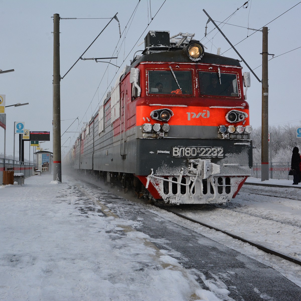
[{"label": "dark rails running out from under the locomotive's icy front", "polygon": [[[220,208],[222,208],[222,207],[220,207]],[[223,209],[225,209],[225,208],[223,208]],[[297,259],[297,258],[294,258],[294,257],[289,256],[289,255],[287,255],[287,254],[281,253],[281,252],[279,252],[279,251],[277,251],[277,250],[273,250],[273,249],[271,249],[271,248],[265,247],[265,246],[263,246],[263,245],[261,245],[261,244],[258,244],[258,243],[256,243],[256,242],[254,242],[254,241],[251,241],[251,240],[246,239],[246,238],[244,238],[244,237],[240,237],[240,236],[238,236],[238,235],[236,235],[236,234],[233,234],[233,233],[230,233],[230,232],[228,232],[228,231],[222,230],[222,229],[217,228],[217,227],[215,227],[215,226],[213,226],[213,225],[209,225],[209,224],[207,224],[207,223],[204,223],[204,222],[201,222],[201,221],[199,221],[199,220],[193,219],[193,218],[191,218],[191,217],[185,215],[185,213],[183,214],[183,213],[178,212],[178,210],[176,210],[176,209],[174,209],[174,208],[165,208],[165,210],[168,211],[168,212],[171,212],[171,213],[173,213],[173,214],[175,214],[175,215],[177,215],[177,216],[179,216],[179,217],[182,217],[182,218],[184,218],[184,219],[187,219],[187,220],[189,220],[189,221],[191,221],[191,222],[194,222],[194,223],[197,223],[197,224],[199,224],[199,225],[205,226],[205,227],[207,227],[207,228],[210,228],[210,229],[213,229],[213,230],[222,232],[222,233],[224,233],[224,234],[226,234],[226,235],[228,235],[228,236],[230,236],[230,237],[232,237],[232,238],[234,238],[234,239],[237,239],[237,240],[240,240],[240,241],[242,241],[242,242],[248,243],[248,244],[250,244],[250,245],[252,245],[252,246],[258,248],[259,250],[262,250],[262,251],[266,252],[266,253],[269,253],[269,254],[272,254],[272,255],[279,256],[280,258],[283,258],[283,259],[286,259],[286,260],[288,260],[288,261],[290,261],[290,262],[294,262],[294,263],[296,263],[296,264],[298,264],[298,265],[301,265],[301,260],[299,260],[299,259]],[[233,211],[235,211],[235,210],[233,210]],[[276,222],[278,222],[278,221],[276,221]],[[291,225],[291,224],[289,224],[289,225]],[[299,226],[297,226],[297,227],[299,227]]]}]

